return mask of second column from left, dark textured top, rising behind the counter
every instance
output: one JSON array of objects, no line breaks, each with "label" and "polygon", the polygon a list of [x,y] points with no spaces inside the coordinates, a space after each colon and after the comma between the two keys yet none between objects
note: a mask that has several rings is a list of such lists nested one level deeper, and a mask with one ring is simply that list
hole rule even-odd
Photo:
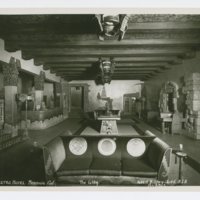
[{"label": "second column from left, dark textured top, rising behind the counter", "polygon": [[45,80],[45,73],[42,71],[40,72],[39,75],[34,76],[36,110],[40,110],[42,106],[43,93],[44,93],[44,80]]}]

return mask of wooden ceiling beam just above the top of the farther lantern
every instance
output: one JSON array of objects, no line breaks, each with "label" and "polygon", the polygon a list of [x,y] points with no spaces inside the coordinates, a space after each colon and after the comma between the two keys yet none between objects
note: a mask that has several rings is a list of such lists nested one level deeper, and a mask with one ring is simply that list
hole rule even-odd
[{"label": "wooden ceiling beam just above the top of the farther lantern", "polygon": [[88,49],[88,48],[55,48],[55,49],[35,49],[23,50],[22,55],[28,58],[35,56],[85,56],[85,57],[133,57],[133,56],[181,56],[190,52],[189,48],[167,48],[167,49]]}]

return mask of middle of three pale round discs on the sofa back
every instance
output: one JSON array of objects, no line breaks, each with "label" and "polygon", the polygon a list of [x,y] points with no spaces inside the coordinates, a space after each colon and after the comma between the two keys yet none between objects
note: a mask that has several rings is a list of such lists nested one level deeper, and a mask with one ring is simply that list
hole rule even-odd
[{"label": "middle of three pale round discs on the sofa back", "polygon": [[103,156],[110,156],[116,150],[116,143],[111,138],[103,138],[98,142],[99,153]]}]

